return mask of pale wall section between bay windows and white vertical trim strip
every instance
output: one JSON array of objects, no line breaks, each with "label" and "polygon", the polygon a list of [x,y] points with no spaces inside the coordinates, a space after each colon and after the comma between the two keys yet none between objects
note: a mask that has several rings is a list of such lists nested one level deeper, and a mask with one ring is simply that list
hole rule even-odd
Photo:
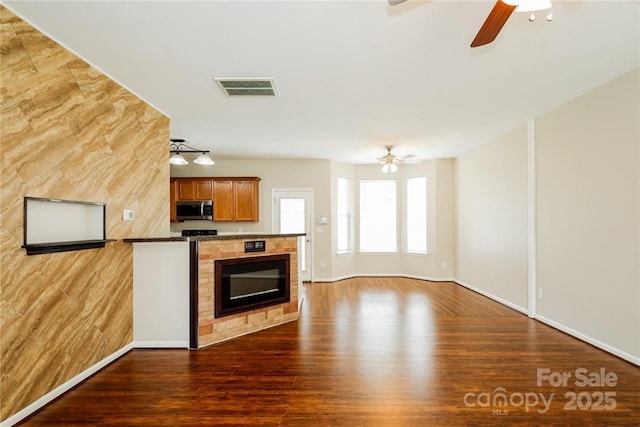
[{"label": "pale wall section between bay windows and white vertical trim strip", "polygon": [[526,125],[455,163],[455,277],[526,310]]}]

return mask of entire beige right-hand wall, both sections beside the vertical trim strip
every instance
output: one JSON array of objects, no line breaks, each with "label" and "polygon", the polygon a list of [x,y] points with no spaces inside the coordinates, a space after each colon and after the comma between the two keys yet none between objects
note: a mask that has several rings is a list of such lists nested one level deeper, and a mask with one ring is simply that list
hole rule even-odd
[{"label": "entire beige right-hand wall, both sections beside the vertical trim strip", "polygon": [[535,241],[527,127],[456,160],[456,278],[640,364],[640,69],[535,119]]}]

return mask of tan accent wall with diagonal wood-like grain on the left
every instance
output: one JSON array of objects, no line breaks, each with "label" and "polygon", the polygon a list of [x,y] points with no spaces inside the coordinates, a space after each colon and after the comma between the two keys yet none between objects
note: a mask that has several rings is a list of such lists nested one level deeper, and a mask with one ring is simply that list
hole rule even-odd
[{"label": "tan accent wall with diagonal wood-like grain on the left", "polygon": [[132,341],[132,246],[27,256],[23,197],[106,202],[110,239],[167,236],[169,119],[2,6],[0,30],[5,420]]}]

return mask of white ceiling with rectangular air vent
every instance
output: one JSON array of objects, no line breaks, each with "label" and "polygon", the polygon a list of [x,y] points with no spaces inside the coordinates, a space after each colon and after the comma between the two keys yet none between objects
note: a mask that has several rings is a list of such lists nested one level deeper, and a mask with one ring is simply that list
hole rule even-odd
[{"label": "white ceiling with rectangular air vent", "polygon": [[[216,159],[453,157],[640,66],[640,2],[554,1],[469,44],[493,1],[4,4]],[[226,97],[214,77],[272,77]],[[612,106],[615,108],[615,106]]]}]

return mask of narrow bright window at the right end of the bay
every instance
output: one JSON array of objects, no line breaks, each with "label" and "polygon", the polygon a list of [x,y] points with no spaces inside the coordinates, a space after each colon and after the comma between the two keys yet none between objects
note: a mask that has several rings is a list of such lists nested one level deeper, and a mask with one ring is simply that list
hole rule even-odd
[{"label": "narrow bright window at the right end of the bay", "polygon": [[407,179],[407,252],[427,253],[427,178]]}]

